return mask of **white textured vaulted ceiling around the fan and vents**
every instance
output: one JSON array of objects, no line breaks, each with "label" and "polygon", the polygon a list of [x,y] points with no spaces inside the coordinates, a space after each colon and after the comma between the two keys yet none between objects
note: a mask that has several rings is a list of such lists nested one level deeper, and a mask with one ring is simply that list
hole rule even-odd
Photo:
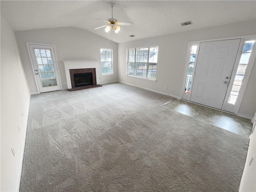
[{"label": "white textured vaulted ceiling around the fan and vents", "polygon": [[[73,26],[86,29],[111,40],[106,24],[95,18],[111,18],[110,2],[114,2],[113,17],[119,22],[133,22],[113,34],[114,42],[128,42],[188,30],[256,19],[256,1],[0,1],[1,15],[14,31]],[[193,22],[181,26],[181,22]],[[131,38],[129,35],[134,34]]]}]

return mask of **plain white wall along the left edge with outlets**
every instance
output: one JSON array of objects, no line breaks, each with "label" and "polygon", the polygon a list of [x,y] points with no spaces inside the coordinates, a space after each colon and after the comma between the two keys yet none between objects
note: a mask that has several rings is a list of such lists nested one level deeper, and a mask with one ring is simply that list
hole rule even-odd
[{"label": "plain white wall along the left edge with outlets", "polygon": [[15,35],[1,16],[1,191],[15,191],[20,184],[29,103]]}]

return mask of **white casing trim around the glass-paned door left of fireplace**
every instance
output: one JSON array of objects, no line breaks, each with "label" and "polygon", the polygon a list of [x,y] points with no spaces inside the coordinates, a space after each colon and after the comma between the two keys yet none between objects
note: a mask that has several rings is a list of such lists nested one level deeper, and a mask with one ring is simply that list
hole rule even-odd
[{"label": "white casing trim around the glass-paned door left of fireplace", "polygon": [[60,81],[60,90],[63,90],[62,88],[62,82],[61,82],[61,77],[60,77],[60,68],[59,68],[59,64],[58,64],[58,58],[57,58],[57,53],[56,53],[56,48],[54,44],[46,44],[46,43],[35,43],[35,42],[26,42],[27,45],[27,49],[28,49],[28,55],[29,55],[29,59],[30,59],[30,64],[32,66],[32,70],[33,70],[33,74],[34,74],[34,79],[35,79],[35,83],[36,83],[36,89],[37,89],[37,93],[40,94],[40,90],[39,90],[39,86],[38,86],[38,82],[37,82],[37,78],[36,78],[36,74],[35,72],[35,68],[33,65],[33,60],[32,60],[32,56],[30,53],[30,49],[29,49],[29,45],[42,45],[42,46],[53,46],[54,48],[54,54],[55,54],[55,59],[56,59],[56,65],[57,65],[57,69],[58,69],[58,76],[59,76],[59,81]]}]

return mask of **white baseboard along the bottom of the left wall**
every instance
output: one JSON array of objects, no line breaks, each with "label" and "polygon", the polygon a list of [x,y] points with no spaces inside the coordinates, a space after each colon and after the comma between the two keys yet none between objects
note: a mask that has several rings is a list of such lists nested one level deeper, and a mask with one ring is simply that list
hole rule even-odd
[{"label": "white baseboard along the bottom of the left wall", "polygon": [[[31,95],[30,95],[31,97]],[[20,153],[20,162],[18,167],[18,177],[17,177],[17,183],[16,183],[16,191],[20,191],[20,179],[21,179],[21,172],[22,172],[22,164],[23,164],[23,156],[24,156],[24,149],[25,149],[25,142],[26,142],[26,134],[27,134],[27,127],[28,127],[28,112],[30,107],[30,97],[29,97],[29,104],[28,104],[28,110],[26,112],[26,124],[24,129],[24,135],[23,135],[23,142],[22,142],[22,148]]]}]

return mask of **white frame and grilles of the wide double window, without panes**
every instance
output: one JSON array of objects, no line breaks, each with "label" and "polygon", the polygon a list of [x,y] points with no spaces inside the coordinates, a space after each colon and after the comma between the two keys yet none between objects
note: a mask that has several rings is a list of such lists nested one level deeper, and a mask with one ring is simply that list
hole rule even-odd
[{"label": "white frame and grilles of the wide double window, without panes", "polygon": [[[158,48],[158,50],[159,50],[159,46],[158,45],[156,45],[156,46],[144,46],[144,47],[136,47],[136,48],[128,48],[127,49],[127,56],[126,56],[126,64],[127,64],[127,66],[126,66],[126,76],[129,76],[129,77],[134,77],[134,78],[140,78],[140,79],[145,79],[145,80],[151,80],[151,81],[156,81],[156,72],[155,72],[155,74],[154,74],[154,76],[155,76],[155,78],[149,78],[148,77],[148,72],[150,71],[150,69],[149,69],[149,65],[150,64],[155,64],[156,66],[157,66],[157,62],[149,62],[149,56],[150,56],[150,48],[154,48],[154,47],[157,47]],[[142,49],[142,48],[148,48],[148,54],[147,54],[147,62],[140,62],[140,61],[138,61],[138,62],[136,62],[136,58],[137,58],[137,56],[138,56],[138,54],[136,54],[136,50],[138,50],[138,49]],[[130,62],[129,61],[129,50],[132,50],[132,49],[134,49],[134,62]],[[143,54],[144,55],[144,54]],[[157,55],[158,56],[158,52],[157,52],[157,54],[154,54],[154,55]],[[158,60],[158,58],[157,58],[157,60]],[[154,60],[153,60],[154,61]],[[129,64],[130,63],[133,63],[134,64],[134,69],[133,69],[133,74],[134,75],[131,75],[131,74],[129,74],[129,71],[130,71],[130,68],[129,68]],[[143,69],[143,70],[146,70],[146,77],[143,77],[143,76],[136,76],[135,75],[135,71],[136,71],[136,64],[137,63],[143,63],[143,64],[145,64],[146,65],[146,69]],[[156,68],[157,69],[157,68]]]}]

